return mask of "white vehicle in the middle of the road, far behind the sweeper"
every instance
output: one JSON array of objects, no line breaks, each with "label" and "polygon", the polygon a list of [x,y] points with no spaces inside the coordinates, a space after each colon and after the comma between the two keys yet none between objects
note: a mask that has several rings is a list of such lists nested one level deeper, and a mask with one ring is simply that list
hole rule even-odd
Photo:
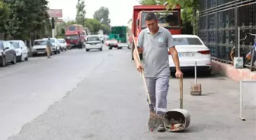
[{"label": "white vehicle in the middle of the road, far behind the sweeper", "polygon": [[90,51],[91,49],[98,49],[102,51],[103,44],[101,42],[101,38],[98,35],[90,35],[86,36],[85,49],[86,51]]}]

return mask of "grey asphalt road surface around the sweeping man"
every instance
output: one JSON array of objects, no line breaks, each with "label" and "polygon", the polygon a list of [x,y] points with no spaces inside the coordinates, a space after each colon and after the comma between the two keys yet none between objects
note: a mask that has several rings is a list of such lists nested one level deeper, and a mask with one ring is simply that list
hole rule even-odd
[{"label": "grey asphalt road surface around the sweeping man", "polygon": [[[130,50],[72,50],[52,59],[31,58],[0,68],[0,139],[256,138],[254,120],[238,119],[238,83],[219,76],[200,78],[203,95],[190,96],[193,82],[184,78],[184,109],[191,115],[187,130],[152,133]],[[178,79],[170,84],[168,108],[178,108]]]}]

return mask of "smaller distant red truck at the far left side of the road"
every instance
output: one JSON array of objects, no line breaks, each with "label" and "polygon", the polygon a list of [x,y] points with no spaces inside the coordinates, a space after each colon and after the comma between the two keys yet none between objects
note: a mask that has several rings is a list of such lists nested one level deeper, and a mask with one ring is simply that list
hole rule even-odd
[{"label": "smaller distant red truck at the far left side of the road", "polygon": [[85,42],[85,36],[82,25],[72,24],[66,27],[66,42],[68,48],[82,48]]}]

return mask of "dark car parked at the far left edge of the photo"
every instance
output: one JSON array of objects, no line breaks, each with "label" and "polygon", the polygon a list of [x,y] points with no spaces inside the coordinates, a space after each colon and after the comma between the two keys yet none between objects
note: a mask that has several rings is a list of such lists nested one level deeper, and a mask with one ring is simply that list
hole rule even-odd
[{"label": "dark car parked at the far left edge of the photo", "polygon": [[16,64],[16,51],[10,42],[0,40],[0,67],[5,67],[8,63]]}]

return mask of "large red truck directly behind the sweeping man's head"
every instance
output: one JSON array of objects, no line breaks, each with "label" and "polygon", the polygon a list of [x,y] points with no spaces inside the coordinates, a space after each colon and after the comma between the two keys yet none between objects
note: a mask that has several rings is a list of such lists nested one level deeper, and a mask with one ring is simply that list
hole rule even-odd
[{"label": "large red truck directly behind the sweeping man's head", "polygon": [[[181,34],[182,21],[180,5],[175,5],[175,8],[170,10],[167,10],[165,5],[136,5],[133,6],[133,25],[131,30],[136,42],[139,33],[146,28],[144,17],[149,12],[154,12],[158,17],[158,23],[160,26],[168,29],[171,34]],[[133,58],[134,44],[131,36],[129,40],[131,43]]]}]

